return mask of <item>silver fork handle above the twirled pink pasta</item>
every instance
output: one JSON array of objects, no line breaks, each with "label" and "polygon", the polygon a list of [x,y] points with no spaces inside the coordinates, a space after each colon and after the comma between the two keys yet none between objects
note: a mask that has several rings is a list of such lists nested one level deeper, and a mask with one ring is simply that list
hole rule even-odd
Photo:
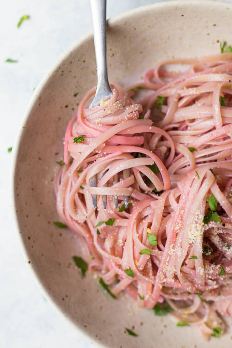
[{"label": "silver fork handle above the twirled pink pasta", "polygon": [[90,0],[90,5],[97,67],[97,89],[92,105],[96,105],[112,93],[106,63],[106,0]]}]

